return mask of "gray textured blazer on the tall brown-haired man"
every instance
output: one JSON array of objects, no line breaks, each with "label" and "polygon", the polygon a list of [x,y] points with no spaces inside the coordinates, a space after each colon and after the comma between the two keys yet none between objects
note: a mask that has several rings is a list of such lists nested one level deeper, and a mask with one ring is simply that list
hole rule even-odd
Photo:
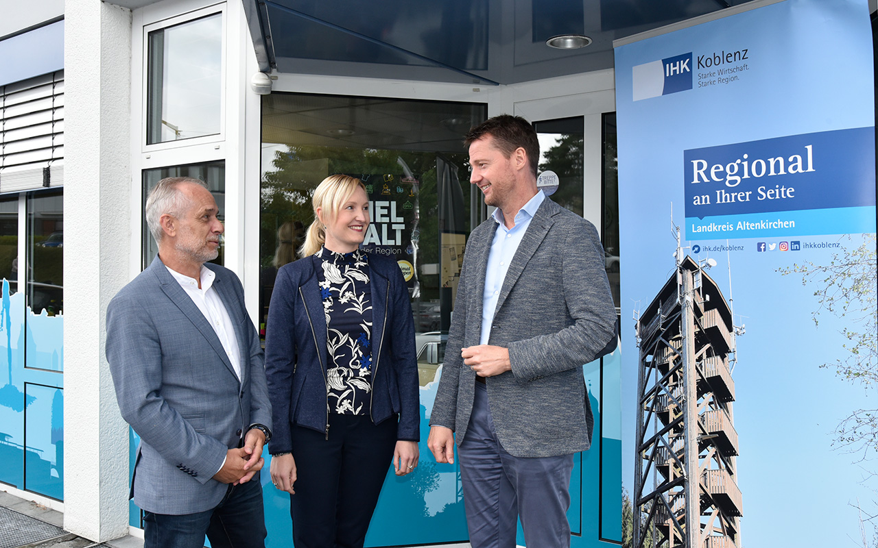
[{"label": "gray textured blazer on the tall brown-haired man", "polygon": [[[460,356],[478,345],[488,253],[497,224],[470,235],[457,287],[431,425],[463,441],[475,374]],[[487,381],[494,428],[516,457],[585,451],[594,426],[582,366],[615,347],[616,315],[594,225],[546,198],[503,281],[489,345],[509,349],[512,371]]]}]

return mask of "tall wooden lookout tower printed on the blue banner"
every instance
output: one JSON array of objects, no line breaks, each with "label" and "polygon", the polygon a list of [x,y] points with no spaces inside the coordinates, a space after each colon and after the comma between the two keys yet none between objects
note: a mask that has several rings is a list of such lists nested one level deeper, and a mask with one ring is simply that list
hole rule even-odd
[{"label": "tall wooden lookout tower printed on the blue banner", "polygon": [[634,546],[740,548],[736,328],[704,273],[716,261],[681,257],[636,318]]}]

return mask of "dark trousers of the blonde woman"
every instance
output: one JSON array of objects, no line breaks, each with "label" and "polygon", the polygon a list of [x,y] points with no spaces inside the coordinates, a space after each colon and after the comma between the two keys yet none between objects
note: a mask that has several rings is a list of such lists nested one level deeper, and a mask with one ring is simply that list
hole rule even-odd
[{"label": "dark trousers of the blonde woman", "polygon": [[296,548],[363,548],[396,446],[397,416],[329,414],[329,437],[292,427],[295,495],[290,495]]}]

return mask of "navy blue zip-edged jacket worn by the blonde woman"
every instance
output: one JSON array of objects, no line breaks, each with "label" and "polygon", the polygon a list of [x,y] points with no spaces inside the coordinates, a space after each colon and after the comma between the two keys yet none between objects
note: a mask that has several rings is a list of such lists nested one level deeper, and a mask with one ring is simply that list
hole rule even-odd
[{"label": "navy blue zip-edged jacket worn by the blonde woman", "polygon": [[[399,413],[397,439],[420,440],[414,320],[396,261],[369,253],[372,423]],[[311,257],[280,267],[265,330],[265,374],[274,428],[270,452],[293,452],[291,425],[329,435],[327,320]]]}]

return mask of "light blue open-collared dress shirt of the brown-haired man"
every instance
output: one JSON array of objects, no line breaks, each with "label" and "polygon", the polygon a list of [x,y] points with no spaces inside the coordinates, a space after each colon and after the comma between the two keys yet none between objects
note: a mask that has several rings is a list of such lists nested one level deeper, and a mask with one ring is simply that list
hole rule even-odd
[{"label": "light blue open-collared dress shirt of the brown-haired man", "polygon": [[521,210],[515,214],[515,226],[506,228],[503,212],[500,208],[494,210],[493,220],[497,223],[494,231],[491,252],[488,253],[488,265],[485,270],[485,293],[482,295],[482,332],[479,344],[488,344],[491,337],[491,324],[497,308],[497,299],[500,297],[500,288],[506,279],[509,263],[515,257],[518,245],[522,243],[524,232],[530,226],[530,220],[534,218],[537,208],[543,203],[545,195],[542,190],[537,190],[536,195],[524,204]]}]

